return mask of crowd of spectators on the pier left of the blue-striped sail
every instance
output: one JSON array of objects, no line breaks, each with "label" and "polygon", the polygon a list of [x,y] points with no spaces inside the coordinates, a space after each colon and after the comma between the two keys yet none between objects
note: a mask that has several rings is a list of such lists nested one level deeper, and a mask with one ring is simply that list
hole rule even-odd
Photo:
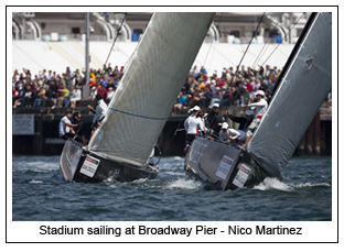
[{"label": "crowd of spectators on the pier left of the blue-striped sail", "polygon": [[12,106],[75,108],[82,99],[82,87],[89,86],[89,100],[95,100],[98,92],[108,102],[114,96],[125,68],[109,63],[103,69],[89,69],[89,81],[86,84],[85,72],[72,72],[69,67],[62,74],[46,69],[33,75],[30,69],[14,70],[12,76]]}]

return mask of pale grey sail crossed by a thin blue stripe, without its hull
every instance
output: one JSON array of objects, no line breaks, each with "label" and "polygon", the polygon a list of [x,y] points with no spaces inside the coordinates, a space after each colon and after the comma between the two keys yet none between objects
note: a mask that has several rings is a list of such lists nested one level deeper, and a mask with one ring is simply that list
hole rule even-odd
[{"label": "pale grey sail crossed by a thin blue stripe, without its hull", "polygon": [[153,14],[90,151],[137,166],[148,161],[214,14]]}]

